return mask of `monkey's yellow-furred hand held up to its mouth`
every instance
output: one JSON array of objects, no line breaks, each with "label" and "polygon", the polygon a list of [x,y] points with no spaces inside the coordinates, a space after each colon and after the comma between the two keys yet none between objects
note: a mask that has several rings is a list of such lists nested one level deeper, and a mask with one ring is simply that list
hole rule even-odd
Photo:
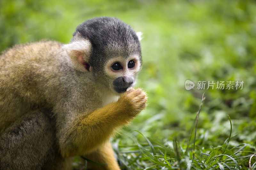
[{"label": "monkey's yellow-furred hand held up to its mouth", "polygon": [[144,91],[140,88],[132,88],[129,91],[122,93],[117,102],[119,103],[119,106],[121,105],[127,111],[127,114],[136,116],[146,108],[147,101],[148,97]]}]

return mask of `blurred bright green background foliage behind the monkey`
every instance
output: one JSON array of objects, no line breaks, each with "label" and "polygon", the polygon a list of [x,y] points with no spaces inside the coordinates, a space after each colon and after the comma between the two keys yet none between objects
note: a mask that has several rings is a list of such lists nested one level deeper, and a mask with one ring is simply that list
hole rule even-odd
[{"label": "blurred bright green background foliage behind the monkey", "polygon": [[[205,92],[197,145],[223,144],[229,115],[231,146],[246,143],[255,152],[255,1],[0,0],[0,51],[41,39],[68,43],[77,25],[99,16],[119,18],[143,33],[137,85],[148,93],[149,105],[119,131],[114,145],[143,142],[134,130],[185,143]],[[239,90],[198,90],[196,85],[186,90],[186,80],[243,80],[244,85]]]}]

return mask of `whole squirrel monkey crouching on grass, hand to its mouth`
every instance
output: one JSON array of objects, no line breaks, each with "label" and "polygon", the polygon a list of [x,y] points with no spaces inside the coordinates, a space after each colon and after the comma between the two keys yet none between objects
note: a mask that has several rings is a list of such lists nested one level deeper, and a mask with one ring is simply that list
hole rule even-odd
[{"label": "whole squirrel monkey crouching on grass, hand to its mouth", "polygon": [[0,169],[69,169],[83,155],[120,169],[109,138],[147,105],[135,84],[140,33],[117,18],[77,26],[69,44],[40,41],[0,56]]}]

